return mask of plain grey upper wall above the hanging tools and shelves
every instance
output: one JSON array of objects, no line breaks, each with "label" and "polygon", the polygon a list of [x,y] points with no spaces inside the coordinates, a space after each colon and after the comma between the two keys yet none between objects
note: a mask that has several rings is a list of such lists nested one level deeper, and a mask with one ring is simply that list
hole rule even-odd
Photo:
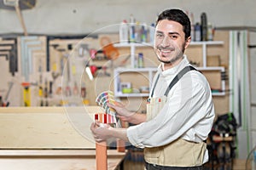
[{"label": "plain grey upper wall above the hanging tools and shelves", "polygon": [[[28,33],[86,34],[129,20],[130,14],[149,25],[165,8],[188,10],[194,13],[195,22],[206,12],[208,20],[218,27],[256,26],[255,6],[254,0],[37,0],[35,8],[22,14]],[[15,11],[0,9],[0,20],[0,34],[23,32]]]}]

